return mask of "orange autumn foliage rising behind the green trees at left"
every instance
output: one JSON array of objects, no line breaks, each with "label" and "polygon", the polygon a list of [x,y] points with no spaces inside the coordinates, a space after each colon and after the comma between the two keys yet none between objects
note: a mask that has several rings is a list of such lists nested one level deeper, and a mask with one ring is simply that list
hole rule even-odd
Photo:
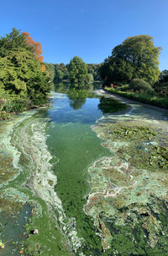
[{"label": "orange autumn foliage rising behind the green trees at left", "polygon": [[[39,42],[34,41],[30,34],[27,32],[22,33],[25,36],[25,41],[26,43],[32,47],[32,51],[34,52],[35,57],[39,60],[40,63],[43,63],[43,56],[41,54],[43,53],[42,51],[42,46]],[[43,64],[41,67],[42,71],[45,71],[45,65]]]}]

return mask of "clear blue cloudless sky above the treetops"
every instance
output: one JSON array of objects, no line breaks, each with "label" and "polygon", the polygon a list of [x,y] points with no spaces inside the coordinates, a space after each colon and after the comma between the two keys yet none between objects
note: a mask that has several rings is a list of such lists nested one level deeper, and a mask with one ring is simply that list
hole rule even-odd
[{"label": "clear blue cloudless sky above the treetops", "polygon": [[45,62],[79,56],[102,63],[114,46],[151,35],[161,46],[160,70],[168,69],[168,0],[3,0],[0,35],[15,27],[42,44]]}]

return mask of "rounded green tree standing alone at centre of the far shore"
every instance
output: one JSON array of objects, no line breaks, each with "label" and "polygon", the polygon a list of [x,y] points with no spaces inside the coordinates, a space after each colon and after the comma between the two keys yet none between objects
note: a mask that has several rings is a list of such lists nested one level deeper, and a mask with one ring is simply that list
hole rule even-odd
[{"label": "rounded green tree standing alone at centre of the far shore", "polygon": [[71,84],[75,84],[76,88],[82,87],[87,77],[87,64],[84,63],[81,57],[73,57],[69,65],[69,74]]}]

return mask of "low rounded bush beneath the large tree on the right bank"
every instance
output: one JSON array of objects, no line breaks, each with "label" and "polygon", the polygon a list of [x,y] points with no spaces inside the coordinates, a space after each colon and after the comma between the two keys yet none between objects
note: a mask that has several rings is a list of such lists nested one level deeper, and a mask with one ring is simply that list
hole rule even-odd
[{"label": "low rounded bush beneath the large tree on the right bank", "polygon": [[135,92],[140,92],[142,94],[153,91],[151,85],[146,81],[144,81],[143,79],[133,79],[129,83],[129,89]]}]

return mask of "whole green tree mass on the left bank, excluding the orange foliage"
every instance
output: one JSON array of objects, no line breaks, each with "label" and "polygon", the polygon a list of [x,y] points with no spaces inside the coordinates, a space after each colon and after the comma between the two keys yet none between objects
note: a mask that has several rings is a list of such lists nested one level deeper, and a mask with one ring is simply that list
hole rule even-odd
[{"label": "whole green tree mass on the left bank, excluding the orange foliage", "polygon": [[13,29],[1,37],[0,46],[0,99],[6,99],[1,111],[20,112],[47,102],[50,75],[25,36]]}]

